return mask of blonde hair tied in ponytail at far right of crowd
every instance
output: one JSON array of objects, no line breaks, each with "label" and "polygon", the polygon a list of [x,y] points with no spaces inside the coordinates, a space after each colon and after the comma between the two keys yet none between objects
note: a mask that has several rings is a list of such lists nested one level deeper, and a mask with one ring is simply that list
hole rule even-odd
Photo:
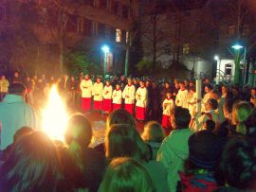
[{"label": "blonde hair tied in ponytail at far right of crowd", "polygon": [[251,106],[244,101],[238,102],[232,109],[232,123],[236,126],[236,131],[242,134],[247,133],[245,122],[252,113]]}]

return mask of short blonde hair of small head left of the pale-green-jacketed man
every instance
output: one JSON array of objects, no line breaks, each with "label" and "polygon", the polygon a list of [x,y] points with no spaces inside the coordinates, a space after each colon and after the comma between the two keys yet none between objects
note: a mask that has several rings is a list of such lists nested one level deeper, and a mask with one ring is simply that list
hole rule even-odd
[{"label": "short blonde hair of small head left of the pale-green-jacketed man", "polygon": [[141,134],[144,141],[162,142],[164,139],[164,131],[162,126],[156,121],[149,121],[144,126],[144,131]]}]

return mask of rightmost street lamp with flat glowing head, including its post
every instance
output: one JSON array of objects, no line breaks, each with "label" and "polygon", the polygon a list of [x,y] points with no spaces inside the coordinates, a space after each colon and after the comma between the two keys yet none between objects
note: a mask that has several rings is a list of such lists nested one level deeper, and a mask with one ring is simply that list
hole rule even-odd
[{"label": "rightmost street lamp with flat glowing head, including its post", "polygon": [[240,49],[244,48],[244,58],[243,58],[243,74],[242,74],[242,84],[245,83],[246,80],[246,71],[245,71],[245,65],[246,65],[246,59],[247,59],[247,48],[240,45],[240,44],[235,44],[231,46],[233,49],[235,49],[235,77],[234,77],[234,82],[235,83],[240,83]]}]

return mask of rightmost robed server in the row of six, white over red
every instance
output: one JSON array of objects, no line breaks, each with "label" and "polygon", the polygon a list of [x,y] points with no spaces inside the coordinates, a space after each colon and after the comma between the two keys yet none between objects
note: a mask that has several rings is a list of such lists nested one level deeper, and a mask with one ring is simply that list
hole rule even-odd
[{"label": "rightmost robed server in the row of six, white over red", "polygon": [[139,88],[136,92],[136,118],[144,121],[146,119],[146,109],[148,105],[148,90],[143,80],[139,81]]}]

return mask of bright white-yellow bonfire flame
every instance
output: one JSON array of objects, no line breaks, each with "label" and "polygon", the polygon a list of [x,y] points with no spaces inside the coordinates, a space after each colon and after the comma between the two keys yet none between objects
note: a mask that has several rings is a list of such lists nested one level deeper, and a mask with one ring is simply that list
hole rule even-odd
[{"label": "bright white-yellow bonfire flame", "polygon": [[42,129],[52,139],[64,141],[68,114],[56,85],[50,89],[46,108],[43,110]]}]

